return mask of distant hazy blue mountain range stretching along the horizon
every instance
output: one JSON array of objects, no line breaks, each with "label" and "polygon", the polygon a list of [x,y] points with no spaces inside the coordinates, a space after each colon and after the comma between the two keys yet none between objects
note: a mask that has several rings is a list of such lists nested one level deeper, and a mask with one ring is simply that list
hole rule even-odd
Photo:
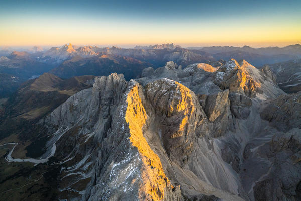
[{"label": "distant hazy blue mountain range stretching along the horizon", "polygon": [[[35,46],[26,51],[12,51],[12,48],[0,50],[0,73],[6,77],[7,88],[1,91],[1,97],[8,97],[28,79],[45,72],[51,72],[62,78],[82,75],[109,75],[123,73],[126,80],[136,78],[147,67],[160,67],[168,61],[176,62],[183,68],[197,63],[213,63],[235,58],[246,59],[261,68],[263,65],[295,60],[301,56],[300,45],[283,48],[240,47],[203,47],[181,48],[174,44],[136,46],[133,49],[119,47],[74,46],[66,44],[44,50]],[[24,50],[24,49],[23,49]],[[12,52],[11,52],[12,51]],[[18,79],[8,79],[18,77]],[[21,81],[18,81],[21,80]]]}]

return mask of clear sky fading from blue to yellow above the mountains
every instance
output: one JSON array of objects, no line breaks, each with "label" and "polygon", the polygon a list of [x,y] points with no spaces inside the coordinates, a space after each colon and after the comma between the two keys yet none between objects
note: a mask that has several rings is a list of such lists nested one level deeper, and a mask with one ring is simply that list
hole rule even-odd
[{"label": "clear sky fading from blue to yellow above the mountains", "polygon": [[301,1],[3,1],[0,46],[301,43]]}]

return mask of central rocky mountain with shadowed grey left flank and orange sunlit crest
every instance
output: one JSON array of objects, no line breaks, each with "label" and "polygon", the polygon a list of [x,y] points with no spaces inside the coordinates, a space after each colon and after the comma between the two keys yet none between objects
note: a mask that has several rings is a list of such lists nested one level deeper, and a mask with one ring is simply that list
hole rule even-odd
[{"label": "central rocky mountain with shadowed grey left flank and orange sunlit crest", "polygon": [[62,163],[61,198],[182,198],[143,137],[149,118],[142,89],[122,75],[100,77],[44,119],[50,133],[63,131],[55,152]]}]

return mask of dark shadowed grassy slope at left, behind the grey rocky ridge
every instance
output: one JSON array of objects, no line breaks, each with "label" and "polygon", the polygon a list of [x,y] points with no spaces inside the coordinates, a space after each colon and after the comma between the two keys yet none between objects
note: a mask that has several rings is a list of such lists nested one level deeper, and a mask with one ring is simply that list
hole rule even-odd
[{"label": "dark shadowed grassy slope at left, behind the grey rocky ridge", "polygon": [[[17,92],[4,104],[1,118],[1,138],[12,130],[20,132],[47,113],[53,111],[74,93],[89,88],[93,76],[74,77],[63,80],[53,74],[44,73],[36,79],[22,84]],[[13,126],[14,125],[14,126]]]}]

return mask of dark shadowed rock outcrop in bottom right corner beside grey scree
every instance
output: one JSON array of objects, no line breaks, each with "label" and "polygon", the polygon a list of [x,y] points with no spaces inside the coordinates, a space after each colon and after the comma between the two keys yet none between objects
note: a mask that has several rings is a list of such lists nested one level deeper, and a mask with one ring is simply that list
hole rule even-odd
[{"label": "dark shadowed rock outcrop in bottom right corner beside grey scree", "polygon": [[[298,200],[300,197],[301,150],[300,129],[276,134],[270,142],[273,163],[267,174],[256,182],[254,197],[258,200]],[[270,156],[269,156],[270,157]],[[289,171],[287,171],[289,170]]]}]

